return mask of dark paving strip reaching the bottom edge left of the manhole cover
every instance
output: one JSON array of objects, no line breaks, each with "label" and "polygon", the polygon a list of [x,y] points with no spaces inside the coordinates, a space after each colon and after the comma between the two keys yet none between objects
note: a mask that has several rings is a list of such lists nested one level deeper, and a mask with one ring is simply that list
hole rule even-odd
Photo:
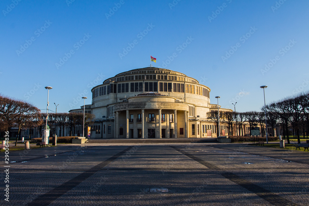
[{"label": "dark paving strip reaching the bottom edge left of the manhole cover", "polygon": [[103,162],[95,165],[94,167],[90,168],[89,170],[83,172],[82,174],[79,174],[78,176],[70,179],[69,181],[64,182],[63,184],[55,187],[54,189],[38,196],[36,199],[29,202],[27,205],[32,206],[32,205],[49,205],[49,204],[51,204],[57,198],[66,194],[68,191],[70,191],[74,187],[78,186],[80,183],[84,182],[87,178],[91,177],[93,174],[95,174],[99,170],[102,170],[105,166],[107,166],[112,161],[116,160],[118,157],[123,155],[125,152],[127,152],[132,147],[133,146],[130,146],[130,147],[122,150],[121,152],[119,152],[116,155],[108,158],[107,160],[104,160]]}]

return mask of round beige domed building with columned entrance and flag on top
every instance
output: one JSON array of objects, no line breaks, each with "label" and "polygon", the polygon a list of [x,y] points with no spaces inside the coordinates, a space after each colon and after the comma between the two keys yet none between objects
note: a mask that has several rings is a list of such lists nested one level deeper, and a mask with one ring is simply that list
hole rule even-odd
[{"label": "round beige domed building with columned entrance and flag on top", "polygon": [[[85,105],[85,113],[95,115],[91,138],[217,137],[216,123],[206,117],[218,109],[210,104],[210,88],[183,73],[133,69],[104,80],[91,92],[92,104]],[[69,112],[83,112],[83,106]],[[225,124],[220,127],[227,133]],[[80,126],[74,128],[75,134],[80,131]]]}]

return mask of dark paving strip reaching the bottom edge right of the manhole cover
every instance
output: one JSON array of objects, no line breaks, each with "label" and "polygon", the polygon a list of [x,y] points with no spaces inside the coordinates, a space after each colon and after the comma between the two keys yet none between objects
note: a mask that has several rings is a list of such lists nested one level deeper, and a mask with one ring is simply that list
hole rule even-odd
[{"label": "dark paving strip reaching the bottom edge right of the manhole cover", "polygon": [[291,202],[290,200],[286,200],[285,198],[281,197],[280,195],[277,195],[273,193],[272,191],[269,191],[263,187],[260,187],[240,176],[237,174],[231,173],[231,172],[225,172],[223,169],[217,167],[216,165],[213,165],[209,162],[206,162],[202,160],[201,158],[195,157],[192,154],[189,154],[188,152],[185,152],[181,150],[180,148],[170,146],[171,148],[177,150],[178,152],[186,155],[187,157],[193,159],[194,161],[197,161],[198,163],[208,167],[209,169],[212,170],[217,170],[217,172],[222,175],[223,177],[229,179],[232,182],[235,182],[237,185],[247,189],[248,191],[258,195],[260,198],[266,200],[267,202],[276,205],[276,206],[281,206],[281,205],[291,205],[291,206],[296,206],[297,204]]}]

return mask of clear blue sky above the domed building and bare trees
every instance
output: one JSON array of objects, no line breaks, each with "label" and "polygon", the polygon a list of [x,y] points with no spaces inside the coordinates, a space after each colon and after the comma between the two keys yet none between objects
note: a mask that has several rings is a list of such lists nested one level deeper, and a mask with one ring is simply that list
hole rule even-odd
[{"label": "clear blue sky above the domed building and bare trees", "polygon": [[46,109],[51,86],[49,109],[67,112],[79,95],[91,104],[96,79],[148,67],[150,55],[236,111],[260,111],[261,85],[266,103],[309,89],[307,0],[72,1],[0,2],[0,93]]}]

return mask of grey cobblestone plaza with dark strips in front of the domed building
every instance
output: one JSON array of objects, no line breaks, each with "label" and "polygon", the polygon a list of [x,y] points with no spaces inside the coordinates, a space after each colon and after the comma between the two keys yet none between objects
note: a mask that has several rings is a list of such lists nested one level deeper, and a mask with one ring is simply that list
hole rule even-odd
[{"label": "grey cobblestone plaza with dark strips in front of the domed building", "polygon": [[[0,205],[308,205],[308,152],[247,144],[85,144],[10,152]],[[10,166],[10,202],[4,201]],[[153,193],[150,188],[167,188]]]}]

